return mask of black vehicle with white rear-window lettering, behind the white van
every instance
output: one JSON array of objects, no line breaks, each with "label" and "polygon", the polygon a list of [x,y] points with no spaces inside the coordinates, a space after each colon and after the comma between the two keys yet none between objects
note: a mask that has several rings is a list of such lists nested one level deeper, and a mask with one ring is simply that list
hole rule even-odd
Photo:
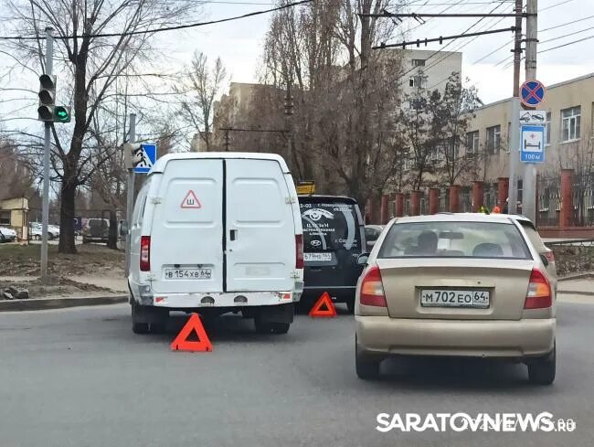
[{"label": "black vehicle with white rear-window lettering, behind the white van", "polygon": [[327,292],[333,302],[355,308],[355,286],[362,267],[357,257],[365,248],[365,225],[351,197],[300,196],[304,289],[302,310]]}]

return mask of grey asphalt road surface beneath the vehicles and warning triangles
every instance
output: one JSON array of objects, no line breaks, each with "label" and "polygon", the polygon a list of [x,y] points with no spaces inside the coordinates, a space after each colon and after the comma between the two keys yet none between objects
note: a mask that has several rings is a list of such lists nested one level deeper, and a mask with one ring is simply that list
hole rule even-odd
[{"label": "grey asphalt road surface beneath the vehicles and warning triangles", "polygon": [[[390,361],[355,377],[352,316],[299,316],[288,335],[256,335],[223,317],[211,353],[133,335],[127,304],[0,314],[2,447],[576,447],[594,444],[594,306],[558,309],[557,381],[481,361]],[[377,413],[536,412],[572,418],[570,433],[376,430]]]}]

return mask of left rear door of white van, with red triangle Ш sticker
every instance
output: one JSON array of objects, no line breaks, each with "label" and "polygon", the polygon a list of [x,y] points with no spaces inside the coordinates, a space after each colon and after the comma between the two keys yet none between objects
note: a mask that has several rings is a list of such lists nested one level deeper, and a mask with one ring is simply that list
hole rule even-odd
[{"label": "left rear door of white van, with red triangle \u0428 sticker", "polygon": [[154,293],[223,292],[223,163],[171,160],[154,174],[161,177],[147,203]]}]

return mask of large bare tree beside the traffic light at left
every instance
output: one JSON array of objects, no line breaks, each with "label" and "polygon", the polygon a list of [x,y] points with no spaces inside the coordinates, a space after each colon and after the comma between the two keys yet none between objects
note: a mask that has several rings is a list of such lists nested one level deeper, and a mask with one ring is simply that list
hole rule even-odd
[{"label": "large bare tree beside the traffic light at left", "polygon": [[[97,159],[86,148],[94,147],[90,133],[93,119],[114,81],[133,70],[133,62],[146,59],[155,30],[179,24],[196,8],[191,0],[10,0],[19,34],[40,37],[53,27],[60,71],[60,85],[71,86],[74,127],[71,133],[52,126],[55,150],[53,167],[60,181],[60,252],[75,253],[73,217],[77,188],[89,181]],[[101,37],[101,35],[113,35]],[[16,41],[13,51],[28,67],[43,67],[41,39]],[[68,80],[69,76],[70,80]]]}]

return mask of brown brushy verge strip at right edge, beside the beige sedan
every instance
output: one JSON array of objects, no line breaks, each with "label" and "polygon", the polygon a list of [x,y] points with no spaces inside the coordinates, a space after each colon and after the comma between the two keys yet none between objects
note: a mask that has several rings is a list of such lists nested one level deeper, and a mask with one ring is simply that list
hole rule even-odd
[{"label": "brown brushy verge strip at right edge, beside the beige sedan", "polygon": [[555,253],[559,277],[594,271],[594,239],[558,240],[545,245]]}]

